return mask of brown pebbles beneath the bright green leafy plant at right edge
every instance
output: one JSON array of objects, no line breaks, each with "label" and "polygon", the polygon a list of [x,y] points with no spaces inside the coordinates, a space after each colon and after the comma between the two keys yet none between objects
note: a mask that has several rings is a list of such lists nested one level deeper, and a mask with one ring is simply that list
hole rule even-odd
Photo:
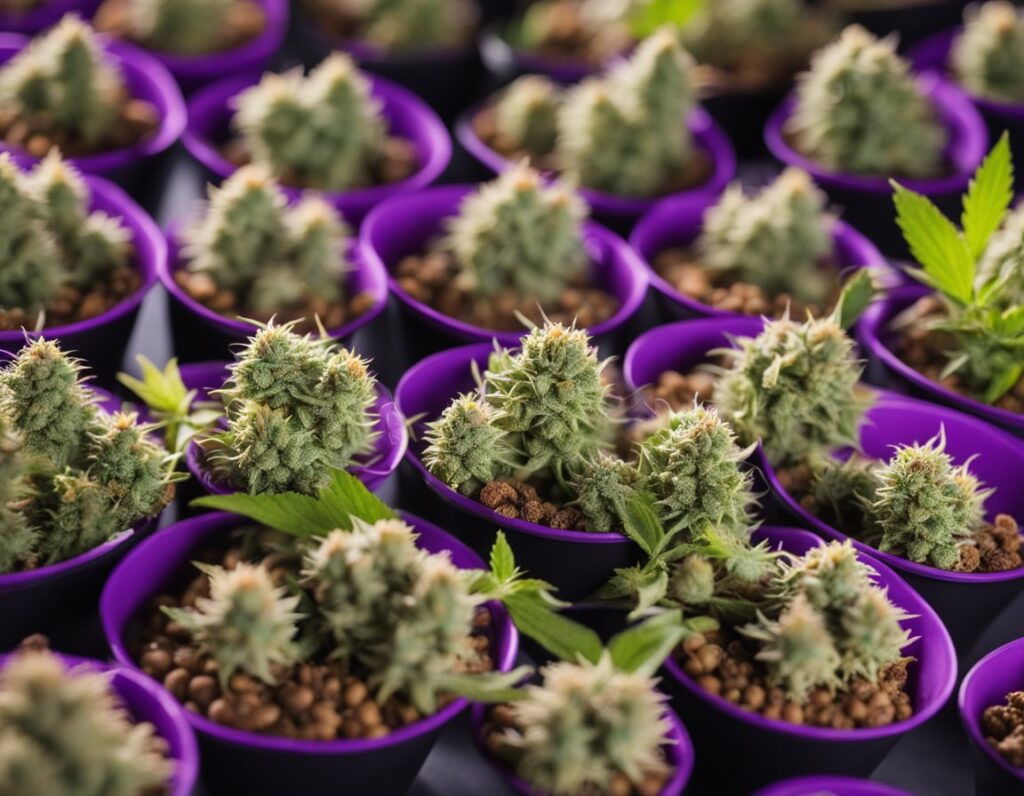
[{"label": "brown pebbles beneath the bright green leafy plant at right edge", "polygon": [[[954,348],[953,341],[947,332],[928,328],[931,321],[942,317],[944,309],[938,297],[926,296],[918,301],[906,312],[900,315],[893,350],[906,365],[925,378],[965,397],[979,400],[977,395],[967,390],[955,373],[942,376],[942,371],[949,362],[947,351]],[[1024,377],[992,406],[1024,415]]]}]

